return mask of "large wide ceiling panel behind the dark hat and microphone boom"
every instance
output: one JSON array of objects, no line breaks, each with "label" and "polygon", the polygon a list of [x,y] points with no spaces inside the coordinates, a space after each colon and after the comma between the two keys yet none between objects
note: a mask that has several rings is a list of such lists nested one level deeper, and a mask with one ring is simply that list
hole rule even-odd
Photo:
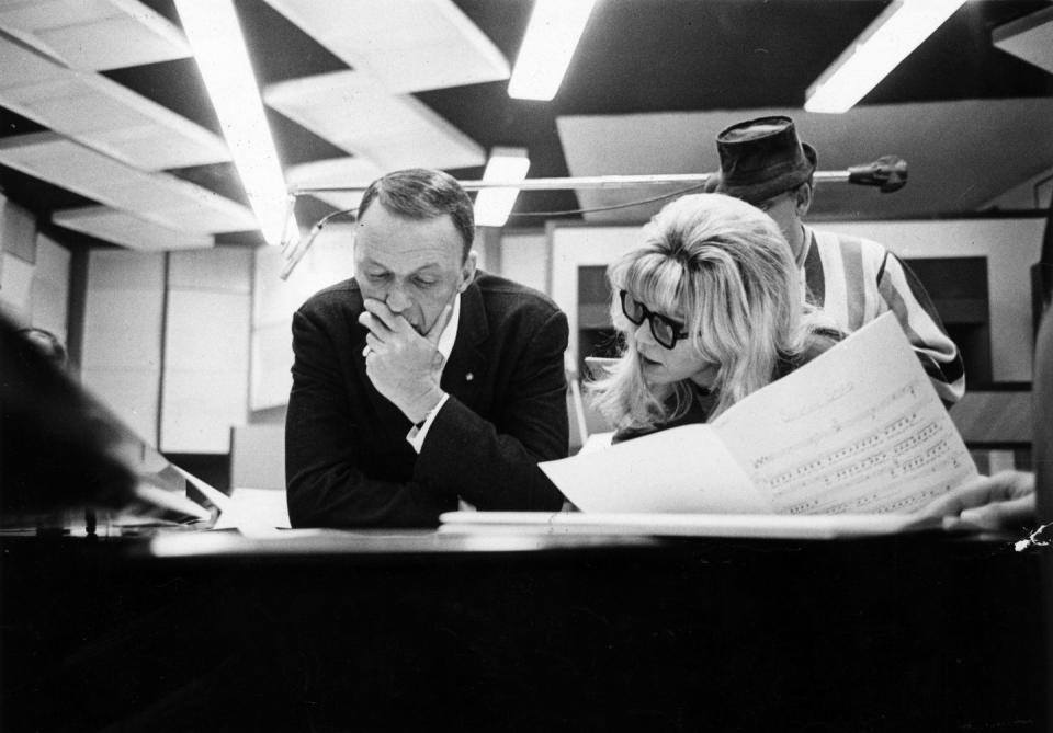
[{"label": "large wide ceiling panel behind the dark hat and microphone boom", "polygon": [[[567,116],[557,125],[571,175],[691,173],[720,168],[714,141],[720,130],[771,114],[788,114],[795,119],[801,139],[818,151],[819,170],[843,171],[886,154],[907,161],[907,185],[895,193],[845,183],[822,184],[812,206],[816,216],[893,217],[975,210],[1053,164],[1050,98],[857,106],[842,115],[763,107]],[[578,199],[585,208],[599,208],[677,190],[579,191]],[[586,218],[641,221],[660,207],[659,202],[596,211]]]}]

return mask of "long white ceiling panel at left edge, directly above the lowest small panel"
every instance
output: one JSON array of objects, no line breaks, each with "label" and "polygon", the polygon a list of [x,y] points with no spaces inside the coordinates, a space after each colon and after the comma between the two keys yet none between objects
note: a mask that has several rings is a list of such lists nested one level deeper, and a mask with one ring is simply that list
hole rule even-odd
[{"label": "long white ceiling panel at left edge, directly above the lowest small panel", "polygon": [[0,163],[177,231],[258,228],[241,204],[167,173],[136,170],[54,133],[0,139]]}]

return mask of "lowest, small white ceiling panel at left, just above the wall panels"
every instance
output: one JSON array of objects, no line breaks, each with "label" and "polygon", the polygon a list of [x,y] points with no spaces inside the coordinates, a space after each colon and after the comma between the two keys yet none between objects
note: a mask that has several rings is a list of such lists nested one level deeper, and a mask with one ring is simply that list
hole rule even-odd
[{"label": "lowest, small white ceiling panel at left, just above the wall panels", "polygon": [[173,231],[107,206],[84,206],[55,211],[52,221],[59,227],[143,252],[202,249],[215,243],[208,234]]}]

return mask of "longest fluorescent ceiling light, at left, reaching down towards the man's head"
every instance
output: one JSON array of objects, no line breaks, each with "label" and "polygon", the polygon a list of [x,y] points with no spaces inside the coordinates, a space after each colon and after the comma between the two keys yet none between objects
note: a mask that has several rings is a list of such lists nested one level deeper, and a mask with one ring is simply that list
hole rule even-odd
[{"label": "longest fluorescent ceiling light, at left, reaching down towards the man's head", "polygon": [[286,227],[285,179],[234,4],[176,0],[176,8],[263,239],[279,244]]}]

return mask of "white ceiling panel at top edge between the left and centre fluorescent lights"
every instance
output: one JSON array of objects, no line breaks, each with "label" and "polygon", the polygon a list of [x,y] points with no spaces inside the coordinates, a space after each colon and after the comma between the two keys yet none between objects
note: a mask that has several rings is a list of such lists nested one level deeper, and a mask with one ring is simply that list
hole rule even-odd
[{"label": "white ceiling panel at top edge between the left and centre fluorescent lights", "polygon": [[392,92],[508,79],[505,56],[451,0],[268,0]]}]

